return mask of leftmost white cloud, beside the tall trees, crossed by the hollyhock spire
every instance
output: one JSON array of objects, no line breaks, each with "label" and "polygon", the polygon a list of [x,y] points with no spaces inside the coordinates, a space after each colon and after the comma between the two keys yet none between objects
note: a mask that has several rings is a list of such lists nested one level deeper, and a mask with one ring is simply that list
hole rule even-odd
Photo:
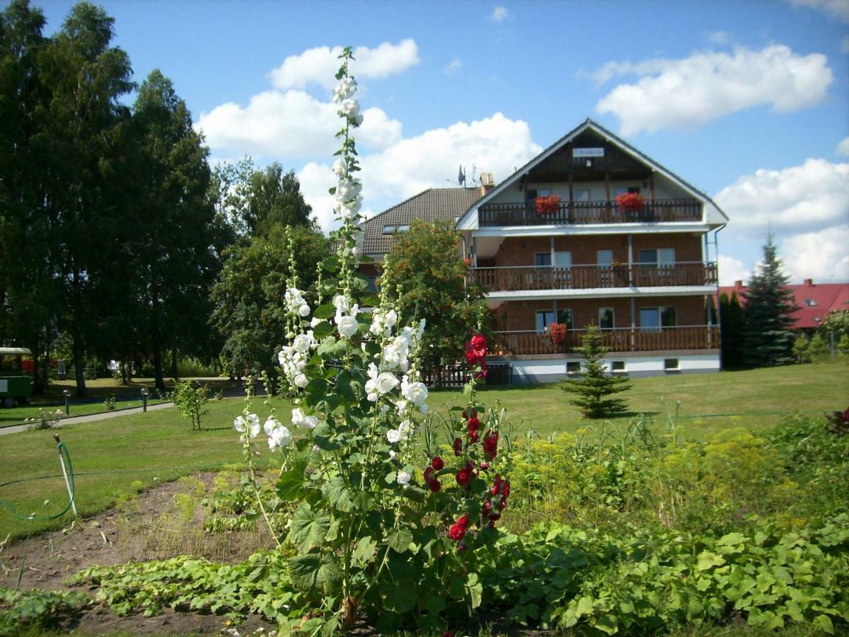
[{"label": "leftmost white cloud, beside the tall trees, crossed by the hollyhock spire", "polygon": [[[258,93],[245,106],[222,104],[201,113],[195,125],[216,154],[311,157],[335,151],[340,119],[337,107],[303,91]],[[360,140],[384,148],[401,137],[401,123],[383,110],[363,111]]]}]

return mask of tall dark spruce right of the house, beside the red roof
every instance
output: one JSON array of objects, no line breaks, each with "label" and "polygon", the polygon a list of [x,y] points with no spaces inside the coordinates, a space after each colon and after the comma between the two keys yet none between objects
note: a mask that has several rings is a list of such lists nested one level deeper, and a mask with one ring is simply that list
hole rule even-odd
[{"label": "tall dark spruce right of the house, beside the red roof", "polygon": [[763,262],[751,278],[745,297],[744,360],[752,367],[786,365],[793,362],[796,311],[789,277],[781,271],[781,259],[772,235],[763,246]]}]

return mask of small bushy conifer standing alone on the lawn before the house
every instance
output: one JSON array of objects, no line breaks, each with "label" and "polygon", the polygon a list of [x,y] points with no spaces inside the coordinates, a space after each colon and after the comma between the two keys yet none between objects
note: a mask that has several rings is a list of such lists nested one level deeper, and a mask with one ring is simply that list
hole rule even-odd
[{"label": "small bushy conifer standing alone on the lawn before the house", "polygon": [[621,414],[628,409],[625,398],[612,397],[614,394],[631,389],[627,375],[609,375],[604,369],[604,354],[609,350],[601,344],[601,332],[598,326],[590,325],[587,334],[581,339],[583,370],[580,379],[567,379],[562,387],[565,392],[577,394],[569,401],[581,410],[585,418],[604,418]]}]

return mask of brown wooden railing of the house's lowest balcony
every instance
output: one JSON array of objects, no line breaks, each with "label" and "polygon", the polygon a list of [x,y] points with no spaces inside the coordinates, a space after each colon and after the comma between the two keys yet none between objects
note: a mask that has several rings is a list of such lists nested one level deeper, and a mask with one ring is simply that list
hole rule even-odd
[{"label": "brown wooden railing of the house's lowest balcony", "polygon": [[[569,330],[564,341],[554,343],[548,334],[536,331],[496,332],[490,353],[558,354],[575,352],[586,330]],[[610,352],[650,352],[657,350],[714,349],[719,347],[719,329],[715,325],[665,327],[662,330],[601,330],[602,344]]]}]

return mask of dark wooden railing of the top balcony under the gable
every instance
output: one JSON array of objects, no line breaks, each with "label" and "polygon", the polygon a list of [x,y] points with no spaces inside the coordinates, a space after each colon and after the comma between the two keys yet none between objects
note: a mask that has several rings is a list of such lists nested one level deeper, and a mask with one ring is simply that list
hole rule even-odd
[{"label": "dark wooden railing of the top balcony under the gable", "polygon": [[565,201],[553,214],[540,214],[532,201],[520,204],[484,204],[478,226],[550,226],[584,223],[700,222],[701,202],[695,199],[646,201],[642,210],[623,210],[615,201]]}]

